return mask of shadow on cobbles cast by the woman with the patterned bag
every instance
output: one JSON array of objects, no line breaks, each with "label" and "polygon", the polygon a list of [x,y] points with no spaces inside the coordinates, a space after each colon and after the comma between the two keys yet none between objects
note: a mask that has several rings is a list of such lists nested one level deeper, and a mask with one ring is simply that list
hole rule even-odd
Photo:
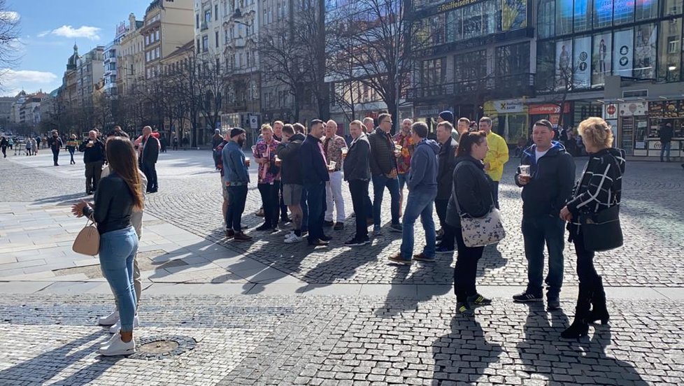
[{"label": "shadow on cobbles cast by the woman with the patterned bag", "polygon": [[457,315],[451,320],[451,332],[432,345],[434,374],[432,385],[473,385],[485,376],[485,369],[499,362],[501,345],[489,343],[474,317]]}]

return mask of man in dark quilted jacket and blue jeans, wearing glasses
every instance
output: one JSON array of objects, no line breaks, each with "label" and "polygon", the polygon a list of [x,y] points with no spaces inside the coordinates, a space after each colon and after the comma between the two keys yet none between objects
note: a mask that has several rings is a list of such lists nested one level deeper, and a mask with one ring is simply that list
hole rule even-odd
[{"label": "man in dark quilted jacket and blue jeans, wearing glasses", "polygon": [[369,134],[371,144],[371,174],[373,180],[373,235],[380,236],[382,222],[380,213],[383,209],[385,188],[390,191],[390,213],[392,224],[390,231],[401,232],[399,223],[399,180],[397,179],[397,155],[394,142],[390,136],[392,115],[380,114],[378,127]]}]

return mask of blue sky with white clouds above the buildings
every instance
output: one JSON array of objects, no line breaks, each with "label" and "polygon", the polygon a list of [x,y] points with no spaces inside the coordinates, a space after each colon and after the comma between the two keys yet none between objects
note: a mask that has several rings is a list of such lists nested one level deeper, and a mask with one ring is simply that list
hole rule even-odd
[{"label": "blue sky with white clouds above the buildings", "polygon": [[143,20],[148,0],[6,0],[19,17],[21,38],[17,64],[1,69],[3,96],[42,89],[51,92],[62,84],[66,61],[73,52],[106,45],[129,13]]}]

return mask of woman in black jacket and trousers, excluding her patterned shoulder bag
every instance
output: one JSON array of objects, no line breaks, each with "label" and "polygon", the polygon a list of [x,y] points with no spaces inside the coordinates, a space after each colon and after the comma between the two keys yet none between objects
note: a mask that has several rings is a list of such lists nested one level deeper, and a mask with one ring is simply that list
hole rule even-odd
[{"label": "woman in black jacket and trousers, excluding her patterned shoulder bag", "polygon": [[485,174],[482,160],[487,155],[487,133],[470,131],[462,134],[456,150],[453,188],[446,209],[446,222],[455,228],[458,253],[454,267],[456,312],[472,315],[471,306],[487,306],[490,299],[478,294],[476,276],[478,262],[485,247],[469,247],[463,241],[461,215],[483,217],[492,210],[492,179]]}]

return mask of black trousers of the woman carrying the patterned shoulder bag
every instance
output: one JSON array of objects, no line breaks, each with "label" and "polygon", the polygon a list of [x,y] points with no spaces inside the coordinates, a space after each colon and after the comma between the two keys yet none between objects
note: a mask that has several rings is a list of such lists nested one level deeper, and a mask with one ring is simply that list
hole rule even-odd
[{"label": "black trousers of the woman carrying the patterned shoulder bag", "polygon": [[482,257],[485,247],[470,248],[463,243],[461,228],[455,228],[458,254],[454,267],[454,292],[456,301],[464,302],[468,296],[478,293],[475,280],[478,273],[478,261]]}]

